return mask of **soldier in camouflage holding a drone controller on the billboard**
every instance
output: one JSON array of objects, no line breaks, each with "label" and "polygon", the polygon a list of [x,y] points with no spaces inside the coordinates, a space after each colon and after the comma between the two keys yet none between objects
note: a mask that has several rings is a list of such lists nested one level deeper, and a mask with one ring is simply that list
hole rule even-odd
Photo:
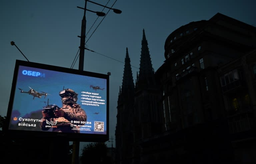
[{"label": "soldier in camouflage holding a drone controller on the billboard", "polygon": [[87,120],[85,111],[77,104],[77,93],[72,89],[64,89],[59,92],[62,100],[62,108],[54,110],[54,116],[50,116],[47,112],[42,111],[42,122],[40,123],[42,130],[48,130],[53,126],[56,132],[73,132],[79,133],[79,127]]}]

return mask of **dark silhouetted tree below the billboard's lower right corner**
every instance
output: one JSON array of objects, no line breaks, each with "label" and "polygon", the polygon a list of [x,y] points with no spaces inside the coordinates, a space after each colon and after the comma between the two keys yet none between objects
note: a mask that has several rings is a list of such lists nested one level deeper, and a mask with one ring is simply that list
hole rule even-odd
[{"label": "dark silhouetted tree below the billboard's lower right corner", "polygon": [[105,143],[95,142],[84,146],[80,159],[82,163],[109,163],[107,145]]}]

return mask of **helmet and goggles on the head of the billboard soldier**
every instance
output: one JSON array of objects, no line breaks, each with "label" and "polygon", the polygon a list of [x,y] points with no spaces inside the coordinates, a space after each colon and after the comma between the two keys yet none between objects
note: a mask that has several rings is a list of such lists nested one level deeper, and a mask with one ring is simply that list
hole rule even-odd
[{"label": "helmet and goggles on the head of the billboard soldier", "polygon": [[77,93],[75,93],[75,91],[73,91],[72,89],[64,89],[63,91],[60,91],[59,93],[61,99],[62,99],[62,103],[73,103],[75,104],[77,101]]}]

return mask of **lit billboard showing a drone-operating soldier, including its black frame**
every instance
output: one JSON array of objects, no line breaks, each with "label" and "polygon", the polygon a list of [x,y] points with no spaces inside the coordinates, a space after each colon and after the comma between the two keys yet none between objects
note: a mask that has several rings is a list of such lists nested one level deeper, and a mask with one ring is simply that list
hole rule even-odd
[{"label": "lit billboard showing a drone-operating soldier, including its black frame", "polygon": [[108,95],[107,74],[16,60],[7,134],[107,141]]}]

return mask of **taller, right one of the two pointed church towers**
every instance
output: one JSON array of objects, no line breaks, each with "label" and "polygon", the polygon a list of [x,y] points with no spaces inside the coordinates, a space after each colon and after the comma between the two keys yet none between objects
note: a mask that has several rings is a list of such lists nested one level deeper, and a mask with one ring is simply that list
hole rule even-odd
[{"label": "taller, right one of the two pointed church towers", "polygon": [[147,138],[157,133],[160,116],[157,108],[159,91],[155,83],[155,73],[149,54],[148,41],[143,29],[141,41],[140,70],[135,86],[135,140]]}]

